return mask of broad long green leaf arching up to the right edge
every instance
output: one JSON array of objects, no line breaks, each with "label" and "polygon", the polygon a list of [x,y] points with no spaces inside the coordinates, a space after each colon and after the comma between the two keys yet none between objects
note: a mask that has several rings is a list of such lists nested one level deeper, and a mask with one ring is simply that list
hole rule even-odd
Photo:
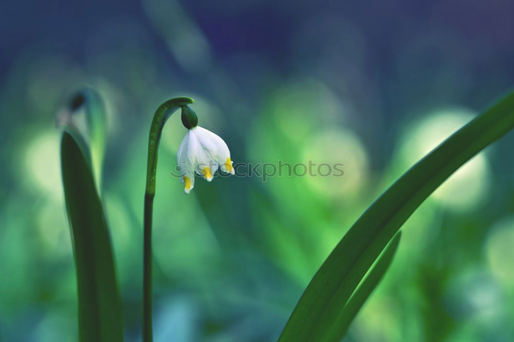
[{"label": "broad long green leaf arching up to the right edge", "polygon": [[355,222],[310,281],[280,341],[336,341],[342,308],[416,208],[458,168],[514,128],[514,92],[455,132],[401,176]]}]

